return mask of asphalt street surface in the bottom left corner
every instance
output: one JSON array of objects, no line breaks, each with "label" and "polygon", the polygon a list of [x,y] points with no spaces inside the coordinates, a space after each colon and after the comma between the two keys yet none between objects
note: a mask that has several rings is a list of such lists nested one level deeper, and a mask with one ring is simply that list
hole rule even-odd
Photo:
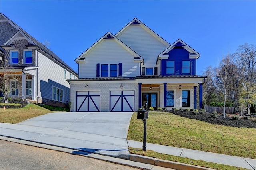
[{"label": "asphalt street surface in the bottom left corner", "polygon": [[1,170],[135,170],[128,166],[0,140]]}]

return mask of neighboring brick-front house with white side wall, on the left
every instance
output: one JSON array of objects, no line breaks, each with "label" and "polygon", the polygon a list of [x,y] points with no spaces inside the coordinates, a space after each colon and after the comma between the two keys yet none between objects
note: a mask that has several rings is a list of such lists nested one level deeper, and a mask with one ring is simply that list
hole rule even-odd
[{"label": "neighboring brick-front house with white side wall, on the left", "polygon": [[1,76],[9,74],[20,79],[10,79],[10,97],[36,103],[47,101],[55,106],[68,103],[70,85],[66,80],[76,79],[78,74],[2,13],[0,33],[0,60],[9,63],[9,67],[1,69]]}]

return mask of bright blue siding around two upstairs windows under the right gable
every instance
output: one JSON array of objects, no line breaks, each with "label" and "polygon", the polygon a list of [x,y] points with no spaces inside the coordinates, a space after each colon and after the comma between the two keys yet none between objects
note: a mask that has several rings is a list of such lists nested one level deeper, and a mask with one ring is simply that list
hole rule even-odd
[{"label": "bright blue siding around two upstairs windows under the right gable", "polygon": [[[190,74],[184,75],[196,75],[196,59],[189,58],[189,52],[183,47],[174,47],[169,53],[168,59],[162,59],[161,73],[162,75],[182,75],[182,61],[190,61]],[[166,73],[166,61],[174,61],[174,74]]]}]

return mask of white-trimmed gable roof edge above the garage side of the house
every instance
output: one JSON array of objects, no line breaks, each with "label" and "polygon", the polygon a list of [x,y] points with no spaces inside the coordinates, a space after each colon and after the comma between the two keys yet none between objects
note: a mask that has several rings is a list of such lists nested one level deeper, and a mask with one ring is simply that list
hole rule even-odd
[{"label": "white-trimmed gable roof edge above the garage side of the house", "polygon": [[121,45],[124,49],[126,49],[129,53],[131,53],[134,56],[134,60],[143,60],[143,58],[140,55],[138,55],[135,51],[130,49],[130,47],[125,45],[122,41],[120,41],[116,36],[114,36],[114,34],[112,34],[111,32],[107,32],[102,38],[100,38],[100,40],[98,40],[90,48],[84,51],[78,58],[76,58],[76,63],[84,62],[84,57],[86,57],[86,55],[90,53],[90,51],[95,49],[98,45],[100,45],[100,43],[102,43],[106,39],[115,40],[119,45]]}]

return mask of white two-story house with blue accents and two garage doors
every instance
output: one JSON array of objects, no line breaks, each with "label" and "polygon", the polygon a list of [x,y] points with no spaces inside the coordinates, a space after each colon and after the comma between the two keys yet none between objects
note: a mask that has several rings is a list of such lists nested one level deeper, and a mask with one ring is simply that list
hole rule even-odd
[{"label": "white two-story house with blue accents and two garage doors", "polygon": [[199,57],[182,40],[170,44],[134,18],[75,60],[79,78],[68,80],[71,111],[202,108],[206,77],[196,75]]}]

